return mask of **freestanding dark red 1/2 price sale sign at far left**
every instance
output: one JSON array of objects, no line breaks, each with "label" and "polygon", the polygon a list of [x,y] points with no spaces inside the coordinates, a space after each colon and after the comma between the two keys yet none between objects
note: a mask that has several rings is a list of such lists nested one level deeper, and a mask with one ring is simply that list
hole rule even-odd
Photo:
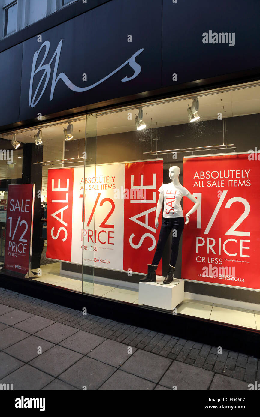
[{"label": "freestanding dark red 1/2 price sale sign at far left", "polygon": [[29,275],[35,184],[8,187],[4,269]]}]

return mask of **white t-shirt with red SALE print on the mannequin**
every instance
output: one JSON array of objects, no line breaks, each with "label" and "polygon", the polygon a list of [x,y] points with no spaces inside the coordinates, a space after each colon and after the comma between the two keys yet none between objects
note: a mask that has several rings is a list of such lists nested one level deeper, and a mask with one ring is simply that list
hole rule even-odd
[{"label": "white t-shirt with red SALE print on the mannequin", "polygon": [[180,202],[183,196],[187,196],[189,194],[189,191],[181,184],[174,186],[173,183],[162,184],[158,191],[164,196],[164,212],[162,216],[167,219],[172,219],[173,217],[183,217]]}]

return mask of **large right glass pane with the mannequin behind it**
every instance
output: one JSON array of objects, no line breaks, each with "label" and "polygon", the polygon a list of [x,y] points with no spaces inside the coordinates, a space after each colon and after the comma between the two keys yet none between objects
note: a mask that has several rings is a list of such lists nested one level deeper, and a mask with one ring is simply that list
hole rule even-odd
[{"label": "large right glass pane with the mannequin behind it", "polygon": [[106,203],[114,240],[97,243],[94,259],[104,297],[172,311],[167,290],[184,281],[177,314],[260,329],[259,105],[253,83],[97,114],[96,181],[114,186],[98,200],[114,198]]}]

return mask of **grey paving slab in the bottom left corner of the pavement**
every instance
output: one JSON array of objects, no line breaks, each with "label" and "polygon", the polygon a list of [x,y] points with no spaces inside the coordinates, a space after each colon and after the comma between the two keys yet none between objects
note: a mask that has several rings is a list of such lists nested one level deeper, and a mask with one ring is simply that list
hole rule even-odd
[{"label": "grey paving slab in the bottom left corner of the pavement", "polygon": [[53,380],[45,372],[25,364],[1,379],[1,384],[13,384],[13,390],[38,390]]}]

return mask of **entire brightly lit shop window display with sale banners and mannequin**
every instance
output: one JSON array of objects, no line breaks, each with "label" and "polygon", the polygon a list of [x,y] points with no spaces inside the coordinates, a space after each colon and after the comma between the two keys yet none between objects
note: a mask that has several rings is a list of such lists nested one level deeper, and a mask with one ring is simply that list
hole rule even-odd
[{"label": "entire brightly lit shop window display with sale banners and mannequin", "polygon": [[259,330],[259,102],[252,83],[39,126],[30,279]]}]

